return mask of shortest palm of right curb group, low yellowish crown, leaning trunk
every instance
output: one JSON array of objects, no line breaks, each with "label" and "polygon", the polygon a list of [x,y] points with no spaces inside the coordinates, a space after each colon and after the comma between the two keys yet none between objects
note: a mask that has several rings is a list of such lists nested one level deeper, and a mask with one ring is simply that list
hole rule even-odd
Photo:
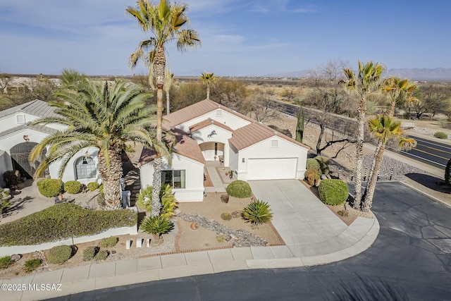
[{"label": "shortest palm of right curb group, low yellowish crown, leaning trunk", "polygon": [[392,116],[379,115],[371,118],[368,122],[368,130],[371,135],[377,138],[378,144],[376,148],[380,149],[380,152],[377,152],[373,159],[373,176],[369,179],[364,192],[362,211],[369,211],[373,203],[373,195],[377,181],[377,176],[374,175],[376,175],[379,168],[381,168],[385,145],[390,137],[397,137],[400,142],[400,148],[402,149],[412,149],[412,147],[416,146],[415,140],[402,137],[401,122],[396,121]]}]

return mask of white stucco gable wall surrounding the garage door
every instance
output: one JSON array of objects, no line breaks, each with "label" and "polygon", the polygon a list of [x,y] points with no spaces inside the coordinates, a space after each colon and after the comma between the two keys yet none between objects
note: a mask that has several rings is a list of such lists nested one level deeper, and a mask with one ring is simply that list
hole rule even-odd
[{"label": "white stucco gable wall surrounding the garage door", "polygon": [[[271,140],[278,141],[278,147],[271,147]],[[237,158],[237,178],[247,180],[249,159],[297,158],[296,178],[304,178],[307,163],[307,149],[278,136],[270,137],[250,147],[241,149]],[[245,162],[242,162],[245,159]],[[230,167],[231,168],[231,167]],[[260,168],[265,168],[261,166]],[[235,170],[235,168],[233,169]]]}]

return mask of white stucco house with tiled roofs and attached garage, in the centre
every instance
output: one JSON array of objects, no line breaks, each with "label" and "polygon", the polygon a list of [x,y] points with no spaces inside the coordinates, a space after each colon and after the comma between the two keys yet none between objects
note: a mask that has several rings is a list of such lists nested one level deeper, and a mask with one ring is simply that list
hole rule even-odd
[{"label": "white stucco house with tiled roofs and attached garage, in the centre", "polygon": [[[202,201],[206,161],[223,161],[238,180],[304,178],[309,147],[209,99],[166,119],[179,138],[172,164],[163,165],[162,182],[173,185],[180,202]],[[153,152],[143,150],[142,187],[152,185],[153,158]]]}]

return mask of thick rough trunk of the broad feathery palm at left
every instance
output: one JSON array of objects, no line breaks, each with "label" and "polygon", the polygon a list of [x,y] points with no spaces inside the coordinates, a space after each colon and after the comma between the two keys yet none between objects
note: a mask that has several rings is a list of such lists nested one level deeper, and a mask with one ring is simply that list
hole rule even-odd
[{"label": "thick rough trunk of the broad feathery palm at left", "polygon": [[104,185],[106,209],[122,208],[121,178],[122,161],[121,150],[108,150],[109,166],[106,164],[105,154],[99,151],[99,173]]}]

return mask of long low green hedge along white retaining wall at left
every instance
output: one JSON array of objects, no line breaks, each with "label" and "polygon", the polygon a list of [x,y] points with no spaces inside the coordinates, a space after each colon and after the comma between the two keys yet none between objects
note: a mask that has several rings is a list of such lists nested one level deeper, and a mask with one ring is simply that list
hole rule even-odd
[{"label": "long low green hedge along white retaining wall at left", "polygon": [[72,203],[56,204],[11,223],[0,224],[0,245],[37,245],[136,224],[135,211],[97,211]]}]

